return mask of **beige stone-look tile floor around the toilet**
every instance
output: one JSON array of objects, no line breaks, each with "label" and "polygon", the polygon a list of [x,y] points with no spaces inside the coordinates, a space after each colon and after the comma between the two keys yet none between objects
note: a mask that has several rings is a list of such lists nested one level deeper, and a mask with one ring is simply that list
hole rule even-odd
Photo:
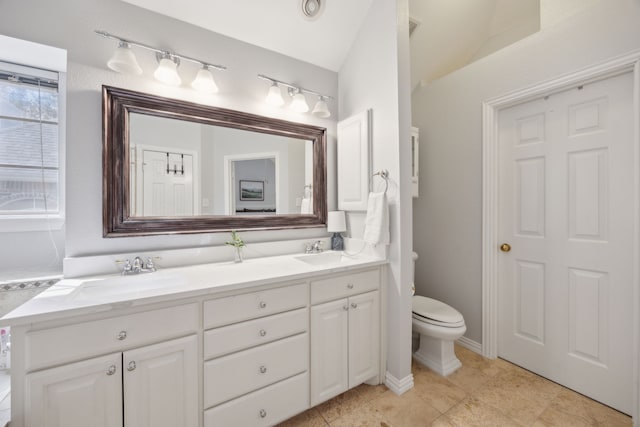
[{"label": "beige stone-look tile floor around the toilet", "polygon": [[630,426],[631,418],[501,359],[456,346],[447,378],[414,362],[415,387],[396,396],[361,385],[281,427]]}]

